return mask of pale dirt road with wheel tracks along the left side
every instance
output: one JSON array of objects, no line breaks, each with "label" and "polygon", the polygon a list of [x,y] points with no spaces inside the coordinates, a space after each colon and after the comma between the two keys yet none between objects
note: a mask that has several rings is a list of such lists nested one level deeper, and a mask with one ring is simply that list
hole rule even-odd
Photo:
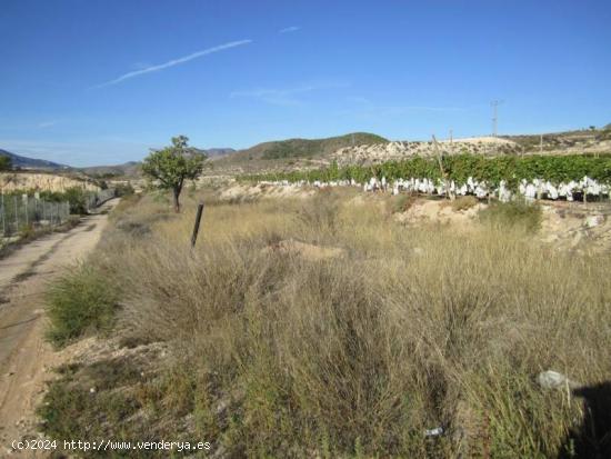
[{"label": "pale dirt road with wheel tracks along the left side", "polygon": [[[18,456],[11,441],[36,435],[34,409],[49,370],[59,363],[43,339],[46,286],[93,249],[106,224],[106,214],[89,216],[72,230],[46,236],[0,260],[0,457]],[[19,456],[33,457],[31,451]]]}]

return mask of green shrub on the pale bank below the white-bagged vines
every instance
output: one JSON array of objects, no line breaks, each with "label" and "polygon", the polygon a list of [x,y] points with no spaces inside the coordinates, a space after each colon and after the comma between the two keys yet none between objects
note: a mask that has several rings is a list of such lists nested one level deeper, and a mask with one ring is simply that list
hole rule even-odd
[{"label": "green shrub on the pale bank below the white-bagged vines", "polygon": [[480,221],[501,227],[522,227],[529,232],[535,232],[541,227],[541,207],[523,200],[494,202],[480,210]]}]

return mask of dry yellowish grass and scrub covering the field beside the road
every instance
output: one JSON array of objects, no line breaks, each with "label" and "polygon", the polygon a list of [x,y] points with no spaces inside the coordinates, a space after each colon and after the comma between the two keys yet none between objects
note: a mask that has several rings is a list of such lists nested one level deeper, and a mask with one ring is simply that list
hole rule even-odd
[{"label": "dry yellowish grass and scrub covering the field beside the road", "polygon": [[94,256],[51,289],[49,336],[128,351],[61,369],[40,409],[47,435],[211,441],[202,457],[601,447],[583,400],[537,376],[610,379],[608,256],[542,245],[535,209],[501,206],[465,232],[399,224],[403,197],[353,198],[201,191],[181,214],[164,196],[126,198]]}]

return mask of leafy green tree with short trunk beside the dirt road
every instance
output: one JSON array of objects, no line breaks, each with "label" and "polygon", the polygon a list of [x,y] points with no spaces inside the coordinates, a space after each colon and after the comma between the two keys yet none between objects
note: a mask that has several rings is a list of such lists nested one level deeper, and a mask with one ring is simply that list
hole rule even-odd
[{"label": "leafy green tree with short trunk beside the dirt road", "polygon": [[172,190],[174,210],[180,211],[180,192],[184,180],[197,179],[202,169],[206,154],[188,146],[186,136],[172,137],[172,144],[161,150],[151,150],[142,163],[142,172],[157,181],[160,189]]}]

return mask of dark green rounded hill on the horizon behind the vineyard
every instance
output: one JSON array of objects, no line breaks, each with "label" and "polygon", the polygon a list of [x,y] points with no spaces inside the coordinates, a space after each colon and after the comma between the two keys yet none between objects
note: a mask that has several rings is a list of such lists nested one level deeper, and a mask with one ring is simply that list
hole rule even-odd
[{"label": "dark green rounded hill on the horizon behind the vineyard", "polygon": [[273,160],[324,157],[340,148],[364,143],[388,143],[388,140],[383,137],[368,132],[354,132],[345,136],[330,137],[327,139],[276,140],[259,143],[246,150],[240,150],[239,152],[232,154],[229,160]]}]

